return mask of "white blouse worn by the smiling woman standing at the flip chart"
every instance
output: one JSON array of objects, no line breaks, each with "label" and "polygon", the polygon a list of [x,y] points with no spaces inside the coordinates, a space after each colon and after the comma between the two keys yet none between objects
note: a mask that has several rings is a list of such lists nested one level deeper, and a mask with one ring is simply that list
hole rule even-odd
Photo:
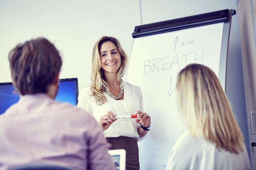
[{"label": "white blouse worn by the smiling woman standing at the flip chart", "polygon": [[[133,115],[136,111],[143,112],[143,98],[140,87],[129,84],[124,81],[124,100],[118,101],[105,94],[107,99],[103,105],[97,105],[95,98],[91,96],[90,88],[82,89],[78,96],[78,107],[85,109],[91,113],[97,122],[102,115],[111,111],[116,115]],[[118,137],[128,136],[142,140],[139,137],[138,127],[139,123],[135,122],[136,119],[117,119],[107,130],[103,132],[105,137]]]}]

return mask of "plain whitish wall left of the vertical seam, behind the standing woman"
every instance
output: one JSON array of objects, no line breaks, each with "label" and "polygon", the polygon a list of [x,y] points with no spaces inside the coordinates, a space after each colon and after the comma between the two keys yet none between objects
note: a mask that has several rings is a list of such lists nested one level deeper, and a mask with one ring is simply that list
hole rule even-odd
[{"label": "plain whitish wall left of the vertical seam, behind the standing woman", "polygon": [[11,82],[8,53],[17,43],[43,36],[63,57],[60,78],[78,77],[89,86],[94,43],[115,36],[128,56],[134,26],[140,24],[138,0],[2,0],[0,2],[0,82]]}]

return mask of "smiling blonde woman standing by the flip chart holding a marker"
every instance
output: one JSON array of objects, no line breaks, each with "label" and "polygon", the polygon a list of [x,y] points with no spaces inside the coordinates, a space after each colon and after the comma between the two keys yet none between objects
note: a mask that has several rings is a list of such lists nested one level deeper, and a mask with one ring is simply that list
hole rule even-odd
[{"label": "smiling blonde woman standing by the flip chart holding a marker", "polygon": [[[127,55],[120,42],[103,36],[94,46],[91,86],[82,89],[78,107],[91,113],[102,125],[110,149],[126,150],[126,169],[139,169],[137,141],[149,130],[151,117],[143,113],[140,87],[122,80]],[[138,115],[138,119],[115,119],[120,115]]]}]

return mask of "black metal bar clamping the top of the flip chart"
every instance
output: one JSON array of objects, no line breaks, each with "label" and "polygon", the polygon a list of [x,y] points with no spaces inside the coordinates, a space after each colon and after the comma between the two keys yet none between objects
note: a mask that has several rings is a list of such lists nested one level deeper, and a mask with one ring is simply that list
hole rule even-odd
[{"label": "black metal bar clamping the top of the flip chart", "polygon": [[184,18],[136,26],[134,32],[132,33],[132,37],[138,38],[148,35],[161,34],[165,32],[184,30],[187,28],[198,27],[208,24],[226,22],[229,19],[229,12],[231,12],[232,15],[236,15],[236,11],[234,9],[224,9],[221,11],[208,12]]}]

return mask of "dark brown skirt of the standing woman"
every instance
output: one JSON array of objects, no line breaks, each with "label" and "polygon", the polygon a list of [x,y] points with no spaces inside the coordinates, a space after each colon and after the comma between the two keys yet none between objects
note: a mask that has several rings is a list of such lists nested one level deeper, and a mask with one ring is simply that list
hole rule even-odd
[{"label": "dark brown skirt of the standing woman", "polygon": [[111,144],[109,150],[124,149],[126,151],[126,170],[139,170],[139,148],[136,138],[119,136],[116,138],[106,138]]}]

